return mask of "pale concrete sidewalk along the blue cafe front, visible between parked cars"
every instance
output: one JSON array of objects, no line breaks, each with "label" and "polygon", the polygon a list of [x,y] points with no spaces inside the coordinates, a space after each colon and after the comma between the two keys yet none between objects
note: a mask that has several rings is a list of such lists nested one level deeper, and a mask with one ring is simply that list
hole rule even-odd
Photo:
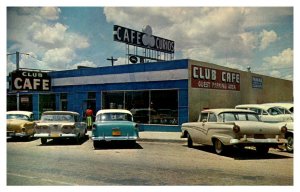
[{"label": "pale concrete sidewalk along the blue cafe front, visible between parked cars", "polygon": [[[92,132],[87,133],[90,137]],[[180,138],[181,132],[156,132],[156,131],[140,131],[140,138],[137,141],[144,142],[167,142],[167,143],[185,143],[186,138]]]}]

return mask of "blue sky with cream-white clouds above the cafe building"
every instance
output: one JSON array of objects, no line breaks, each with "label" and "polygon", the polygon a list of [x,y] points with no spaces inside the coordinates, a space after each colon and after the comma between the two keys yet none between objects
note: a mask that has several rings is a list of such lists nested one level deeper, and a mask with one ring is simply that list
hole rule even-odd
[{"label": "blue sky with cream-white clouds above the cafe building", "polygon": [[[175,41],[175,59],[194,59],[293,79],[293,7],[8,7],[7,53],[20,67],[65,70],[125,64],[113,25]],[[7,57],[7,72],[15,56]]]}]

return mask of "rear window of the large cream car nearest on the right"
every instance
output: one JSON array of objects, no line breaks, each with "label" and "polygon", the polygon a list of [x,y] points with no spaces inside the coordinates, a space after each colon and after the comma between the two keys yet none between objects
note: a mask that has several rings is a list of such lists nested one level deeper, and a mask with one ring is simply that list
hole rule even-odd
[{"label": "rear window of the large cream car nearest on the right", "polygon": [[218,115],[219,122],[229,121],[259,121],[259,118],[254,113],[245,112],[224,112]]}]

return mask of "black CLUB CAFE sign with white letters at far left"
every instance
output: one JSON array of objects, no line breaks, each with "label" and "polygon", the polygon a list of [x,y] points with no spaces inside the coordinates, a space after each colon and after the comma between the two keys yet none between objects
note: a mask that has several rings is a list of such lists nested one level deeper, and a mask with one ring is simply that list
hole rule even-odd
[{"label": "black CLUB CAFE sign with white letters at far left", "polygon": [[13,91],[50,91],[51,79],[47,73],[14,71],[11,73]]}]

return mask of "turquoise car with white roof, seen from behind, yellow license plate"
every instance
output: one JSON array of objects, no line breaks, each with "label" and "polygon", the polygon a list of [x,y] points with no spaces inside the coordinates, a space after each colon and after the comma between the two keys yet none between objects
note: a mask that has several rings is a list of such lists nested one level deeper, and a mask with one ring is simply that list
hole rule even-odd
[{"label": "turquoise car with white roof, seen from behind, yellow license plate", "polygon": [[103,141],[129,141],[135,144],[139,138],[138,124],[128,110],[103,109],[96,114],[91,138],[95,149]]}]

